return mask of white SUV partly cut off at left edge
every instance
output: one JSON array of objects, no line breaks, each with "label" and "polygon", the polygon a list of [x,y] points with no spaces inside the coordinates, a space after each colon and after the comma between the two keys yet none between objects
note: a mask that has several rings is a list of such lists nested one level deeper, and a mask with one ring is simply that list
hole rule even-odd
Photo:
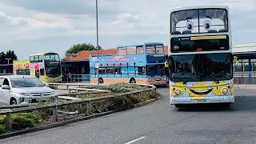
[{"label": "white SUV partly cut off at left edge", "polygon": [[16,105],[58,98],[53,89],[29,75],[0,76],[0,104]]}]

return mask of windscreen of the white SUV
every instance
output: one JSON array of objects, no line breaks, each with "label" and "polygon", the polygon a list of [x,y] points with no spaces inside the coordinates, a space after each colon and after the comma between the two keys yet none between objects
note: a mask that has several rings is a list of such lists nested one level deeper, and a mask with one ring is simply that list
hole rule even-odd
[{"label": "windscreen of the white SUV", "polygon": [[11,78],[10,82],[14,88],[44,86],[38,78]]}]

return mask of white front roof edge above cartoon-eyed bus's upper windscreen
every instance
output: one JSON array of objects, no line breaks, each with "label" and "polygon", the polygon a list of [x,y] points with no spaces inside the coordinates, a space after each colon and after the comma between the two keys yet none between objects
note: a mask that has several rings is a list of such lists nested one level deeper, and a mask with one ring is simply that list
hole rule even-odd
[{"label": "white front roof edge above cartoon-eyed bus's upper windscreen", "polygon": [[194,10],[194,9],[226,9],[228,10],[228,6],[185,6],[185,7],[175,7],[171,9],[171,12],[179,11],[179,10]]}]

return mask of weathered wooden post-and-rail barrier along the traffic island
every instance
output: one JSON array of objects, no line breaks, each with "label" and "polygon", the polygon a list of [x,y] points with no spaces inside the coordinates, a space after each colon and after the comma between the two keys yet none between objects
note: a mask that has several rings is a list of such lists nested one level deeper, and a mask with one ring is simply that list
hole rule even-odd
[{"label": "weathered wooden post-and-rail barrier along the traffic island", "polygon": [[[86,115],[91,115],[91,102],[106,100],[115,98],[118,96],[128,96],[130,94],[138,95],[138,97],[142,97],[142,93],[149,91],[156,91],[155,86],[151,85],[141,85],[141,86],[149,86],[150,88],[147,90],[137,90],[134,92],[122,93],[122,94],[114,94],[109,96],[95,97],[95,98],[86,98],[75,101],[66,101],[66,102],[54,102],[46,105],[26,105],[26,106],[1,106],[1,109],[7,109],[0,111],[0,115],[6,115],[7,126],[10,130],[12,130],[12,114],[31,112],[33,110],[44,110],[48,108],[53,109],[53,121],[58,122],[58,106],[70,106],[74,104],[86,104]],[[88,92],[87,92],[88,93]],[[80,94],[80,93],[79,93]]]}]

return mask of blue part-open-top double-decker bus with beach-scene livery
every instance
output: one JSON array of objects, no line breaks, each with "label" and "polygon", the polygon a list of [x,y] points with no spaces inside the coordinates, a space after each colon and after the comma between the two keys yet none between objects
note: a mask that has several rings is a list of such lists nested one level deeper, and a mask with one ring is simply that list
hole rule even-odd
[{"label": "blue part-open-top double-decker bus with beach-scene livery", "polygon": [[161,42],[118,46],[116,56],[90,55],[90,82],[166,85],[165,61]]}]

